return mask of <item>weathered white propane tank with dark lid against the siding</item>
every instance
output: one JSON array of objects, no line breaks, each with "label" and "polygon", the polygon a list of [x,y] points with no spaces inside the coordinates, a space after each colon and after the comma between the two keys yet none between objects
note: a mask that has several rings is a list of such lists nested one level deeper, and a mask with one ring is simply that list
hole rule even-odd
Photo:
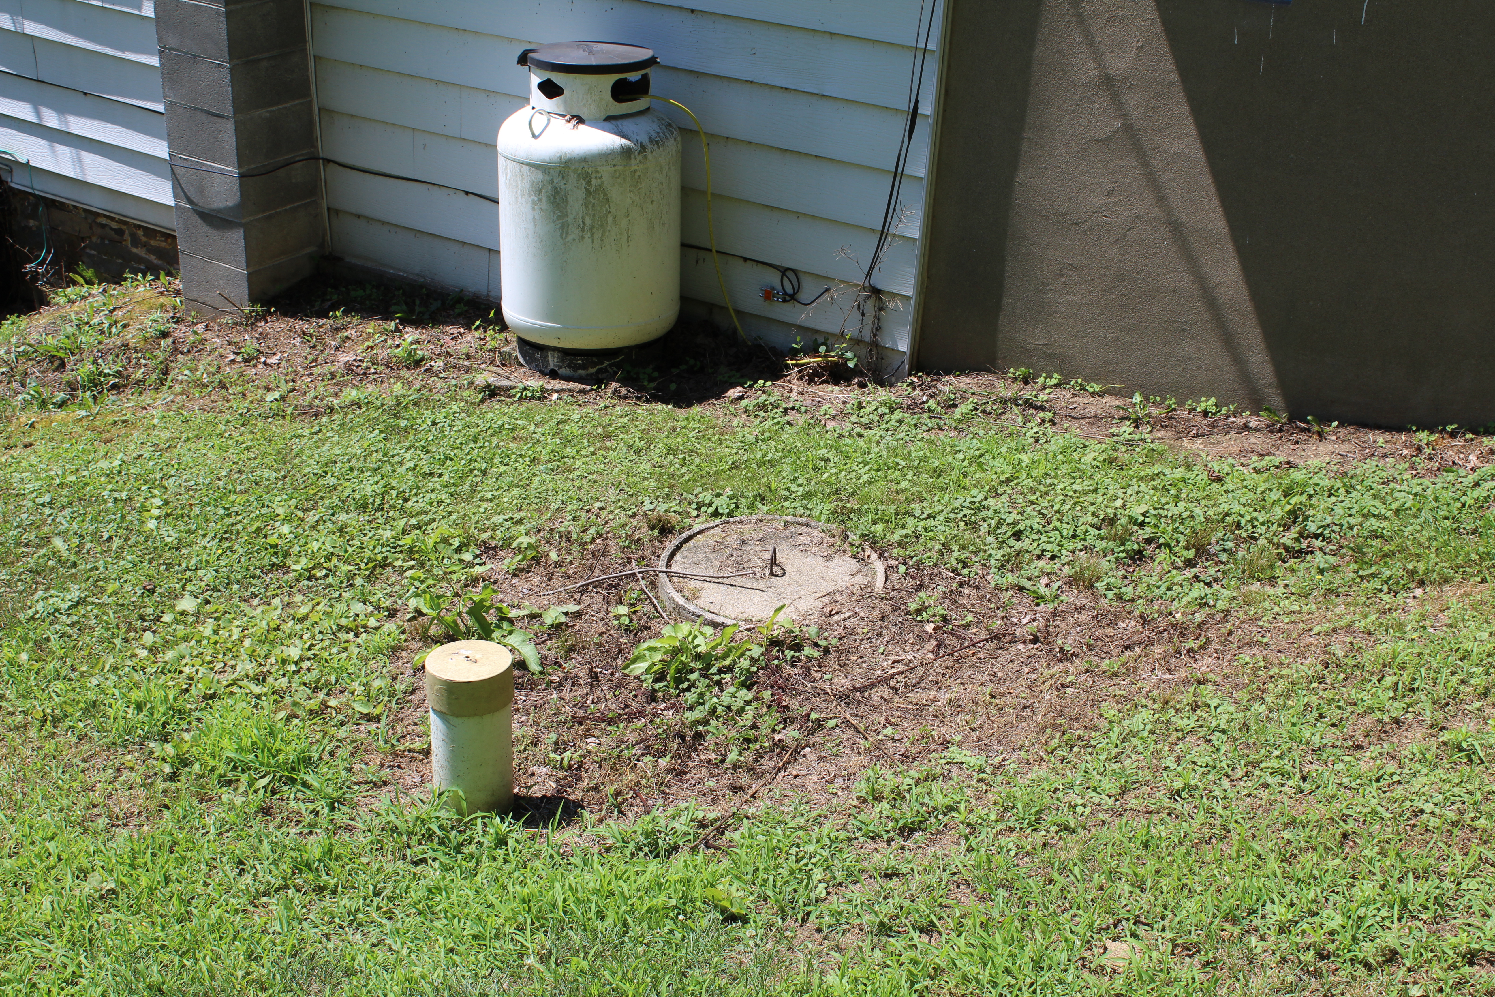
[{"label": "weathered white propane tank with dark lid against the siding", "polygon": [[680,133],[647,48],[526,49],[529,106],[498,130],[504,320],[532,344],[619,350],[680,312]]}]

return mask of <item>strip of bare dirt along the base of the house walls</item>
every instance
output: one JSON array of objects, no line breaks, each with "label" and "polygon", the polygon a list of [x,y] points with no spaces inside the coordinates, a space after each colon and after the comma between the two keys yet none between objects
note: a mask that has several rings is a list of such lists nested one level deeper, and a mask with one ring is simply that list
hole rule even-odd
[{"label": "strip of bare dirt along the base of the house walls", "polygon": [[[462,384],[540,404],[571,398],[583,404],[722,405],[750,390],[767,390],[795,402],[797,419],[839,425],[851,402],[890,390],[870,386],[836,357],[786,359],[703,323],[682,323],[611,381],[574,384],[520,366],[514,339],[490,303],[335,277],[306,281],[269,309],[212,321],[178,315],[164,329],[158,321],[151,326],[151,314],[170,302],[173,290],[167,283],[117,294],[111,308],[118,312],[121,335],[66,360],[12,351],[7,360],[0,357],[0,377],[18,387],[78,395],[78,368],[105,362],[118,371],[121,392],[185,387],[206,405],[214,404],[218,389],[229,396],[277,395],[308,417],[324,411],[326,401],[342,390],[402,383],[435,390]],[[87,302],[42,309],[28,318],[28,329],[43,335]],[[1145,433],[1206,459],[1275,457],[1287,465],[1405,462],[1429,475],[1495,462],[1486,435],[1322,425],[1209,407],[1200,411],[1172,399],[1136,404],[1082,390],[1073,381],[1057,386],[1052,378],[1018,374],[916,374],[894,386],[891,395],[921,413],[975,405],[993,426],[1044,423],[1093,439],[1123,433],[1132,442]]]}]

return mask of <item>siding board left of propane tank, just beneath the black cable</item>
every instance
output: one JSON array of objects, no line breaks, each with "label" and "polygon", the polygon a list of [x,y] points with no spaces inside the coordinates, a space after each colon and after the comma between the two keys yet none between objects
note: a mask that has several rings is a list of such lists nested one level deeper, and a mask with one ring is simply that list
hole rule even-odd
[{"label": "siding board left of propane tank, just beneath the black cable", "polygon": [[498,248],[498,205],[429,184],[369,176],[329,164],[327,206],[457,242]]}]

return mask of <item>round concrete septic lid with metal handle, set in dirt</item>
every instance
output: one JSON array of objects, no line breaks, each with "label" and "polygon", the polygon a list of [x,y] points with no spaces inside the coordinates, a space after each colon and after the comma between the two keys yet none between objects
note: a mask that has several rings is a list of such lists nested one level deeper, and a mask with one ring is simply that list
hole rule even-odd
[{"label": "round concrete septic lid with metal handle, set in dirt", "polygon": [[752,574],[709,581],[661,572],[659,599],[668,613],[713,626],[762,623],[780,605],[780,620],[813,622],[836,593],[881,592],[887,580],[876,553],[869,549],[860,559],[848,555],[837,532],[794,516],[739,516],[697,526],[665,549],[661,568]]}]

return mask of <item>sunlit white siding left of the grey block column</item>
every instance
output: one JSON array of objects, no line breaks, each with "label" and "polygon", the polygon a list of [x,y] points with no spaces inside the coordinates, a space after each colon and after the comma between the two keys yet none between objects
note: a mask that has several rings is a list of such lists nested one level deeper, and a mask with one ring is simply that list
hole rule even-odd
[{"label": "sunlit white siding left of the grey block column", "polygon": [[0,0],[0,157],[22,190],[172,230],[151,0]]}]

